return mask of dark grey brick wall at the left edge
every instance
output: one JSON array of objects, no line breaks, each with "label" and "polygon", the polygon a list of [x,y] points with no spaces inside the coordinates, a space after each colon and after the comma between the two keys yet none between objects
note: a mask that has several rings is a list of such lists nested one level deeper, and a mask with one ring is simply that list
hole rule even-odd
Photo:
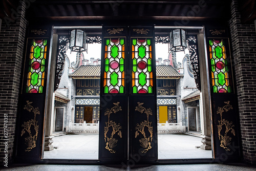
[{"label": "dark grey brick wall at the left edge", "polygon": [[[25,19],[25,4],[14,22],[3,19],[0,32],[0,165],[5,154],[8,154],[8,165],[12,163],[15,122],[22,68],[23,48],[26,35],[27,21]],[[4,116],[8,116],[8,153],[5,153]]]}]

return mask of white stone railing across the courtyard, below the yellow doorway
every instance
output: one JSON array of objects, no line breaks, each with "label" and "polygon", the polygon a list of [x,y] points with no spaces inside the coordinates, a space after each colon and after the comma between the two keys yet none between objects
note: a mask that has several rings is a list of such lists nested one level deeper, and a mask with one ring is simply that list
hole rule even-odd
[{"label": "white stone railing across the courtyard, below the yellow doorway", "polygon": [[180,123],[158,123],[157,124],[158,133],[174,133],[174,132],[186,132],[186,127],[182,126],[182,122]]}]

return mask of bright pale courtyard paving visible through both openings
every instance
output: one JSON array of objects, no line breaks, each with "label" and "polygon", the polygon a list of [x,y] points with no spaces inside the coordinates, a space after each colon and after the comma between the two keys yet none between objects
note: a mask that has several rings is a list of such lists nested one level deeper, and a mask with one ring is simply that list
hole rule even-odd
[{"label": "bright pale courtyard paving visible through both openings", "polygon": [[[44,159],[98,159],[98,135],[62,135],[53,138],[53,151]],[[200,146],[202,138],[184,134],[159,134],[158,159],[211,158],[211,151]]]}]

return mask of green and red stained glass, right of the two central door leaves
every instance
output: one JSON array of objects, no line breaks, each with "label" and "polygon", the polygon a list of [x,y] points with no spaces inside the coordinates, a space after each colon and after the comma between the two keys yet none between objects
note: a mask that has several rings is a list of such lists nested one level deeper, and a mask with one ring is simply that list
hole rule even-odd
[{"label": "green and red stained glass, right of the two central door leaves", "polygon": [[153,93],[152,38],[132,38],[132,92]]}]

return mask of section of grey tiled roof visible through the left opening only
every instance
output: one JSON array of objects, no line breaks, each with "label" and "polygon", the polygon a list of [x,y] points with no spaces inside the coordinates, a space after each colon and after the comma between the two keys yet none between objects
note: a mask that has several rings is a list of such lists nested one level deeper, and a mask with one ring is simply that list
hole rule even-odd
[{"label": "section of grey tiled roof visible through the left opening only", "polygon": [[75,72],[69,74],[75,79],[100,78],[100,66],[80,66]]}]

